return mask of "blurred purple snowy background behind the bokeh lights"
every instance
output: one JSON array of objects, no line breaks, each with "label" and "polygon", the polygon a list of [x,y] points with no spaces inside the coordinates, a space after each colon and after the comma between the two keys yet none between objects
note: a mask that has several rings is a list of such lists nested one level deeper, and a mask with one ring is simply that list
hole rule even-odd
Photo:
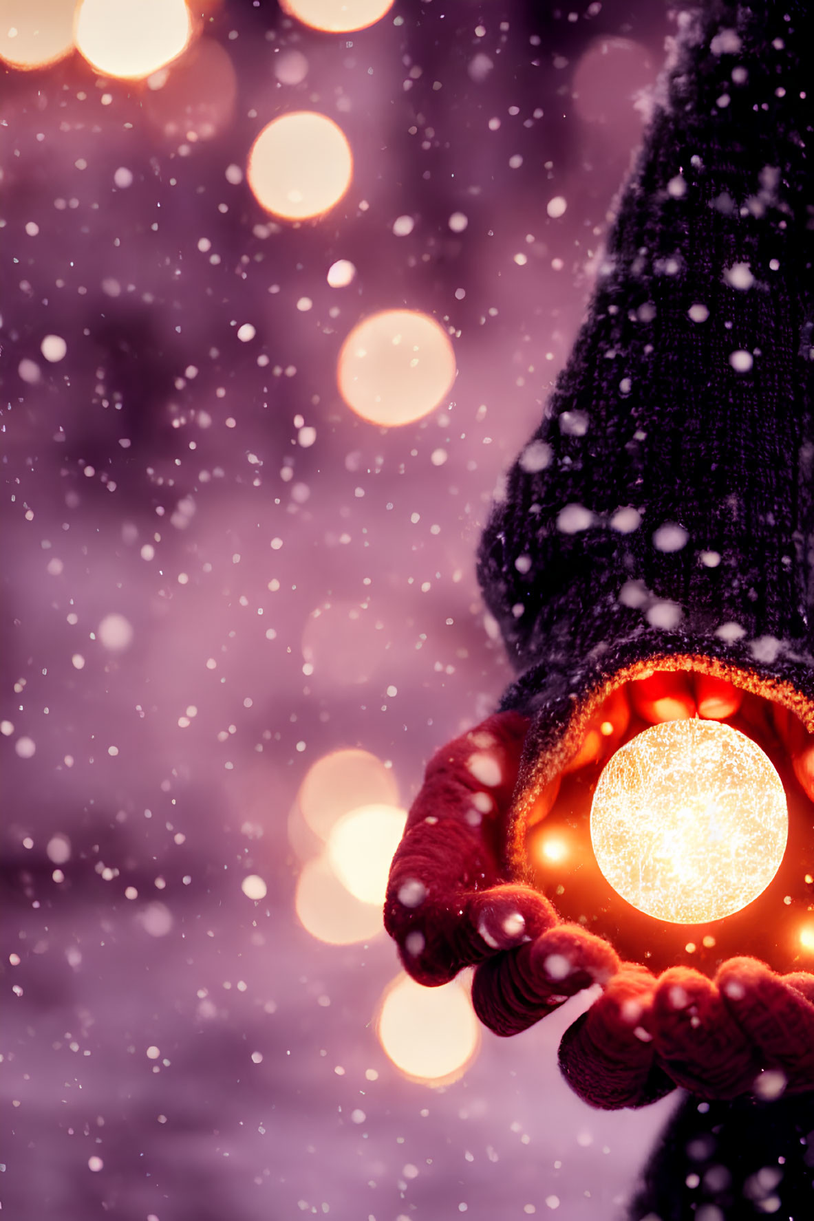
[{"label": "blurred purple snowy background behind the bokeh lights", "polygon": [[[298,794],[361,747],[407,806],[510,679],[474,551],[584,310],[667,9],[397,0],[352,34],[194,11],[163,79],[76,54],[1,78],[4,1215],[622,1216],[672,1101],[571,1095],[573,1007],[484,1032],[451,1084],[405,1076],[375,908],[345,945],[297,913],[324,849]],[[293,226],[246,164],[303,109],[354,173]],[[390,308],[441,322],[458,375],[381,429],[336,360]]]}]

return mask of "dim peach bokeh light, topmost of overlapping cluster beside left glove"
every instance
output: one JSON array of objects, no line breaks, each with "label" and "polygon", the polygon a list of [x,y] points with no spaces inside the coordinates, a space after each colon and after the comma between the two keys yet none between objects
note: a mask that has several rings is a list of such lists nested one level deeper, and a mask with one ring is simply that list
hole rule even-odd
[{"label": "dim peach bokeh light, topmost of overlapping cluster beside left glove", "polygon": [[394,806],[398,790],[392,772],[369,751],[346,750],[324,755],[309,768],[297,802],[302,816],[321,839],[331,827],[358,806]]}]

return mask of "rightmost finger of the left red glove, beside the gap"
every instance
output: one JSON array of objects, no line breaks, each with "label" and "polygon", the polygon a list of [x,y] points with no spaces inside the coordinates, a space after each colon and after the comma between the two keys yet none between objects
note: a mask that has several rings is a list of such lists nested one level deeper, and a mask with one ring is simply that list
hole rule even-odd
[{"label": "rightmost finger of the left red glove, beside the gap", "polygon": [[517,1034],[568,996],[606,983],[618,958],[607,941],[579,924],[559,924],[482,963],[472,985],[475,1013],[495,1034]]}]

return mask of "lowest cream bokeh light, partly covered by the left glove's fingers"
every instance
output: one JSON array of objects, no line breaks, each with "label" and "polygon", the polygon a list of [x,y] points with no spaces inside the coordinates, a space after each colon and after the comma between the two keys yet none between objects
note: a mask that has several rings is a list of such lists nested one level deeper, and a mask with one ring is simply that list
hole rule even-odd
[{"label": "lowest cream bokeh light, partly covered by the left glove's fingers", "polygon": [[456,979],[423,988],[397,976],[384,993],[376,1033],[405,1076],[430,1085],[461,1077],[480,1045],[469,994]]}]

